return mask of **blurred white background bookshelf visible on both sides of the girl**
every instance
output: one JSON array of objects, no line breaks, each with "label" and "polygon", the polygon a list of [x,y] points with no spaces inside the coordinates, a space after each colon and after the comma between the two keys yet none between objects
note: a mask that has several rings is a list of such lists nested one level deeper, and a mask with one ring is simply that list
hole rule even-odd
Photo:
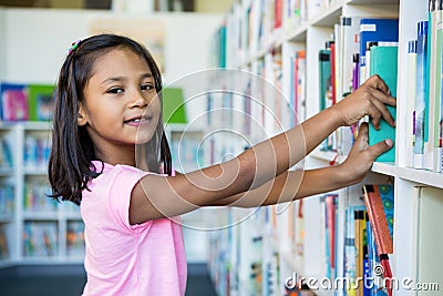
[{"label": "blurred white background bookshelf visible on both sides of the girl", "polygon": [[[84,225],[80,208],[45,196],[50,192],[47,172],[50,132],[50,122],[0,123],[0,268],[83,263]],[[196,170],[202,164],[197,146],[203,131],[187,124],[167,124],[165,132],[173,149],[174,167],[179,172]],[[183,162],[175,156],[179,154]],[[183,221],[195,226],[198,218],[189,214]],[[193,258],[202,261],[197,255]]]}]

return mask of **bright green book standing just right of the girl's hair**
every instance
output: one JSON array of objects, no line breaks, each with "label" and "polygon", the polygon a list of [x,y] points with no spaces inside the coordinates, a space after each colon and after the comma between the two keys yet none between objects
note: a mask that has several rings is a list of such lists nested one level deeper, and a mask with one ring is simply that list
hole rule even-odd
[{"label": "bright green book standing just right of the girl's hair", "polygon": [[182,89],[165,88],[162,90],[162,99],[164,123],[187,123]]}]

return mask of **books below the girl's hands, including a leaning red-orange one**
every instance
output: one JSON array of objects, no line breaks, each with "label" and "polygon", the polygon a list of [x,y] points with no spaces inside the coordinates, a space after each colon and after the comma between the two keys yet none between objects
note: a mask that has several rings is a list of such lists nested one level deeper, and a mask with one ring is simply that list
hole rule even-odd
[{"label": "books below the girl's hands, including a leaning red-orange one", "polygon": [[[393,253],[393,185],[371,184],[363,186],[363,201],[360,202],[356,196],[342,196],[343,201],[339,201],[337,194],[320,198],[324,225],[321,234],[324,244],[323,276],[331,280],[346,279],[336,282],[343,285],[336,287],[343,295],[388,295],[383,278],[392,277],[389,254]],[[339,204],[344,207],[343,236],[339,235]],[[341,245],[339,237],[343,237],[342,249],[338,247]],[[339,253],[343,254],[342,268],[339,268]],[[381,269],[385,274],[380,274]]]}]

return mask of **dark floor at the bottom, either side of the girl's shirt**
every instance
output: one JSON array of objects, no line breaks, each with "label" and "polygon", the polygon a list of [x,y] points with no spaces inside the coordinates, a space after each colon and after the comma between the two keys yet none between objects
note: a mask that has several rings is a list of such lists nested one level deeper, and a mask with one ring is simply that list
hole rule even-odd
[{"label": "dark floor at the bottom, either side of the girl's shirt", "polygon": [[[0,272],[1,296],[79,296],[85,276],[80,266],[19,266]],[[44,276],[43,276],[44,275]],[[186,296],[216,296],[205,264],[188,265]]]}]

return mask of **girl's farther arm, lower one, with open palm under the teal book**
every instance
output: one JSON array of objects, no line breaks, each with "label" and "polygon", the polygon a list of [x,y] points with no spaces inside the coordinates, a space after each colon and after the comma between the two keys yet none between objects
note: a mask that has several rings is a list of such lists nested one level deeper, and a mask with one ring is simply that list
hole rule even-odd
[{"label": "girl's farther arm, lower one, with open palm under the teal book", "polygon": [[362,124],[356,144],[344,163],[309,171],[286,171],[256,190],[223,198],[214,205],[256,207],[290,202],[349,186],[362,181],[375,157],[390,147],[392,142],[380,142],[369,147],[368,125]]}]

